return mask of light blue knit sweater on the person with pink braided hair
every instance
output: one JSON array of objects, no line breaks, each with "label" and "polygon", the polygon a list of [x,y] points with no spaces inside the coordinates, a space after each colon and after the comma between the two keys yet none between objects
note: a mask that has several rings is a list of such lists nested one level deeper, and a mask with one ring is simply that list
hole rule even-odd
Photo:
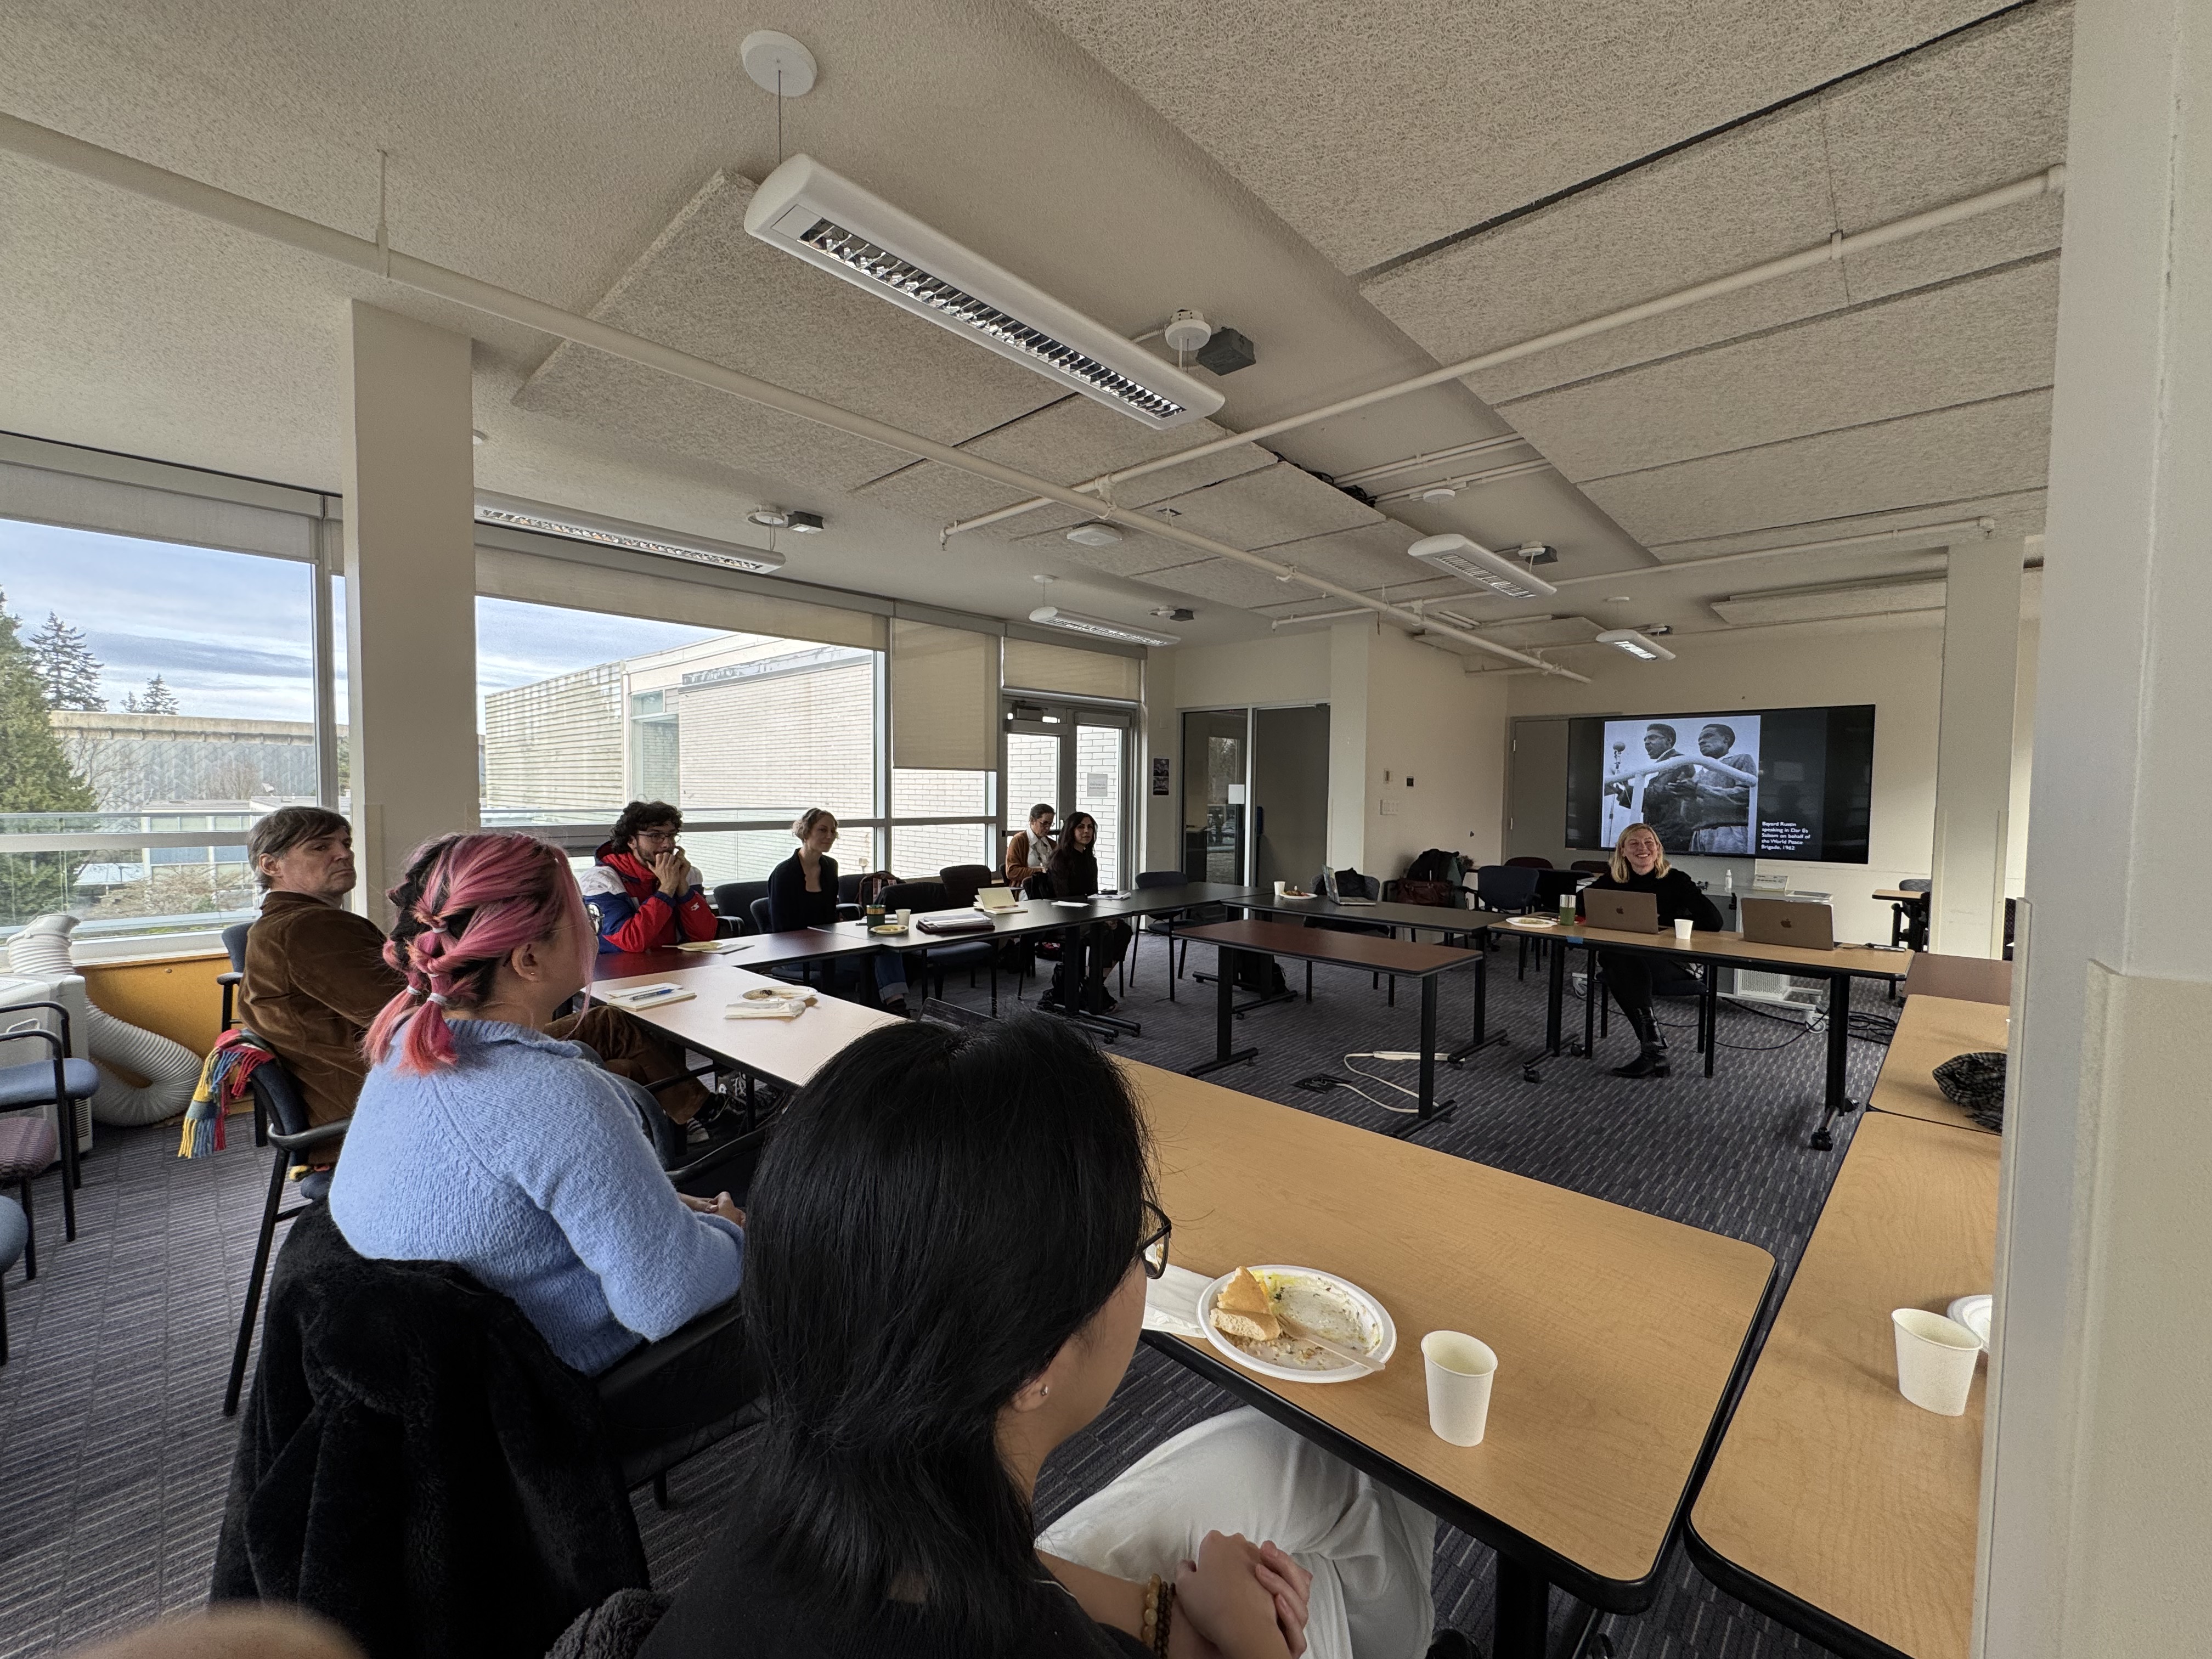
[{"label": "light blue knit sweater on the person with pink braided hair", "polygon": [[586,1376],[737,1294],[745,1234],[684,1208],[586,1048],[498,1020],[453,1020],[453,1046],[361,1086],[330,1181],[354,1250],[467,1267]]}]

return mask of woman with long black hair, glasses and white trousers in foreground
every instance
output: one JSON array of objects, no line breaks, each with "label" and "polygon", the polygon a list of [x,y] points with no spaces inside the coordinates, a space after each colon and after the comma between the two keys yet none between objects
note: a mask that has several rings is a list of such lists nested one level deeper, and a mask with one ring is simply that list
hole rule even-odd
[{"label": "woman with long black hair, glasses and white trousers in foreground", "polygon": [[1126,1075],[1073,1029],[869,1033],[745,1210],[768,1427],[639,1659],[1427,1648],[1436,1522],[1256,1411],[1035,1537],[1037,1469],[1113,1396],[1170,1243]]}]

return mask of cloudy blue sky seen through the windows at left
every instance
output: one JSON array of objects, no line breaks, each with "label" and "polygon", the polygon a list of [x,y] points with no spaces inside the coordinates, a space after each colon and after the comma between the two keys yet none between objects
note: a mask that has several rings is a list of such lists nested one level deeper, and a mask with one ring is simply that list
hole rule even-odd
[{"label": "cloudy blue sky seen through the windows at left", "polygon": [[[22,637],[49,611],[82,628],[117,710],[161,675],[186,714],[312,719],[307,584],[307,566],[288,560],[0,518],[0,593]],[[343,655],[343,611],[336,633]],[[712,628],[478,599],[478,692],[712,637]],[[341,719],[343,697],[341,679]]]}]

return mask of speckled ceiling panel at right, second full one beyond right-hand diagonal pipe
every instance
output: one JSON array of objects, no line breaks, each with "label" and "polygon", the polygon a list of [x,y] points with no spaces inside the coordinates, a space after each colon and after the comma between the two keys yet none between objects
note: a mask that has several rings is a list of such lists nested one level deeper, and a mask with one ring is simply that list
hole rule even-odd
[{"label": "speckled ceiling panel at right, second full one beyond right-hand diagonal pipe", "polygon": [[1621,473],[1584,491],[1655,546],[2039,489],[2048,449],[2051,394],[2022,392]]}]

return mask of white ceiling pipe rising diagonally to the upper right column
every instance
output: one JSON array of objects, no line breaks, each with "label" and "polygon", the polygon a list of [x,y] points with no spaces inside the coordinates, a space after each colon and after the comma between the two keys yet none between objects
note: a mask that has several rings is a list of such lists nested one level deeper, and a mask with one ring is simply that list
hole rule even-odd
[{"label": "white ceiling pipe rising diagonally to the upper right column", "polygon": [[[1947,201],[1940,208],[1929,208],[1927,212],[1913,212],[1905,219],[1891,219],[1887,226],[1874,226],[1869,230],[1843,232],[1838,230],[1827,241],[1814,248],[1803,248],[1794,254],[1783,254],[1781,259],[1767,259],[1759,265],[1745,265],[1743,270],[1730,272],[1728,276],[1714,276],[1708,283],[1697,283],[1694,288],[1681,288],[1672,294],[1661,294],[1659,299],[1648,299],[1641,305],[1628,305],[1619,312],[1606,312],[1604,316],[1593,316],[1586,323],[1571,323],[1568,327],[1557,327],[1551,334],[1537,334],[1533,338],[1520,341],[1515,345],[1500,345],[1495,352],[1484,352],[1482,356],[1462,358],[1458,363],[1447,363],[1440,369],[1429,369],[1427,374],[1416,374],[1411,380],[1396,380],[1394,385],[1376,387],[1374,392],[1360,392],[1354,398],[1338,398],[1336,403],[1325,403],[1318,409],[1307,409],[1305,414],[1283,416],[1281,420],[1267,420],[1250,431],[1234,431],[1228,438],[1214,438],[1212,442],[1197,445],[1192,449],[1177,449],[1172,456],[1159,456],[1157,460],[1146,460],[1137,467],[1124,467],[1113,473],[1093,478],[1077,489],[1099,491],[1119,484],[1126,478],[1141,478],[1146,473],[1157,473],[1166,467],[1179,467],[1186,460],[1197,460],[1199,456],[1217,456],[1223,449],[1237,449],[1239,445],[1259,442],[1261,438],[1272,438],[1279,431],[1292,431],[1294,427],[1310,427],[1316,420],[1329,420],[1340,414],[1352,414],[1354,409],[1365,409],[1374,403],[1385,403],[1387,398],[1402,398],[1409,392],[1422,392],[1431,385],[1442,385],[1444,380],[1458,380],[1460,376],[1475,374],[1480,369],[1495,369],[1502,363],[1515,363],[1524,356],[1535,356],[1537,352],[1548,352],[1555,345],[1568,345],[1573,341],[1588,338],[1590,334],[1606,334],[1617,327],[1628,327],[1630,323],[1641,323],[1648,316],[1666,316],[1668,312],[1679,312],[1686,305],[1697,305],[1719,294],[1734,294],[1741,288],[1756,288],[1759,283],[1770,283],[1776,276],[1792,276],[1801,270],[1812,270],[1816,265],[1829,265],[1851,254],[1865,252],[1869,248],[1882,248],[1891,241],[1905,241],[1907,237],[1918,237],[1927,230],[1942,230],[1944,226],[1955,226],[1960,219],[1973,219],[1984,212],[1995,212],[1997,208],[2011,208],[2017,201],[2033,201],[2035,197],[2057,195],[2066,188],[2066,168],[2053,166],[2042,173],[2031,173],[2024,179],[2013,179],[2011,184],[2000,184],[1995,190],[1982,190],[1980,195],[1962,197],[1960,201]],[[982,524],[995,524],[1002,518],[1015,518],[1018,513],[1029,513],[1031,509],[1046,507],[1060,500],[1057,495],[1040,495],[1037,500],[1015,502],[1013,507],[1000,507],[995,513],[982,513],[978,518],[964,518],[958,524],[949,524],[947,533],[973,531]]]}]

